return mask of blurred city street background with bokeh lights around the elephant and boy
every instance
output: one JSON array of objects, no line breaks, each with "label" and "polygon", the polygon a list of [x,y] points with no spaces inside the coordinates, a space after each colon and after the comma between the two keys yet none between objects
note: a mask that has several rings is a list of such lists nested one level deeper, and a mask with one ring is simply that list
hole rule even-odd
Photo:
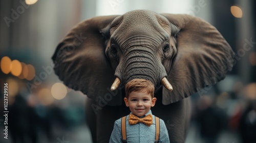
[{"label": "blurred city street background with bokeh lights around the elephant and boy", "polygon": [[225,79],[190,97],[185,142],[255,142],[255,7],[253,0],[0,0],[0,142],[93,142],[88,97],[55,75],[52,56],[80,21],[136,9],[198,16],[216,27],[234,51]]}]

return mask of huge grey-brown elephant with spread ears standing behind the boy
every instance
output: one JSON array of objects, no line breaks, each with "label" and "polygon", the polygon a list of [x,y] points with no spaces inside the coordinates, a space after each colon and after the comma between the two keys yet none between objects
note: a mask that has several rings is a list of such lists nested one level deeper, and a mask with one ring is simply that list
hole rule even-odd
[{"label": "huge grey-brown elephant with spread ears standing behind the boy", "polygon": [[152,112],[165,122],[170,142],[184,142],[190,96],[223,80],[233,56],[220,32],[199,17],[133,10],[79,22],[52,60],[59,79],[87,95],[93,142],[109,142],[115,120],[130,113],[123,98],[132,79],[154,84]]}]

